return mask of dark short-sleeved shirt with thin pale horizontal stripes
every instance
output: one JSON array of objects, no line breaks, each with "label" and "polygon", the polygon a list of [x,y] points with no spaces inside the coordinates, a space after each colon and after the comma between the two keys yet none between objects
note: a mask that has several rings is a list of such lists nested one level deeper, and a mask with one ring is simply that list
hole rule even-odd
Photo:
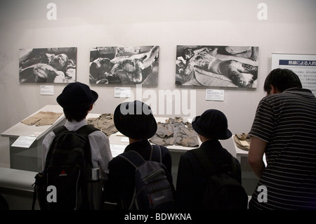
[{"label": "dark short-sleeved shirt with thin pale horizontal stripes", "polygon": [[[316,98],[290,88],[263,98],[249,136],[268,143],[267,166],[249,209],[316,209]],[[267,202],[261,188],[267,189]]]}]

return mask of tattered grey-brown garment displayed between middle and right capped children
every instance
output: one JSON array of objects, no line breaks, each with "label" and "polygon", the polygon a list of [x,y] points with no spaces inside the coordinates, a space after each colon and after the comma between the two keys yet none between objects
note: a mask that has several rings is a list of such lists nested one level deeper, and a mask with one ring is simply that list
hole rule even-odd
[{"label": "tattered grey-brown garment displayed between middle and right capped children", "polygon": [[197,133],[192,124],[183,121],[182,117],[166,119],[166,123],[157,123],[157,132],[150,138],[150,142],[157,145],[181,145],[184,147],[199,146]]}]

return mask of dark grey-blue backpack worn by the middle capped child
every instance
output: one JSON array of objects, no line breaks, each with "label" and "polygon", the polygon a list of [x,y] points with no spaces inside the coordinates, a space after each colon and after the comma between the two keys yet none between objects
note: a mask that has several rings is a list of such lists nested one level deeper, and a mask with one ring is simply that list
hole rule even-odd
[{"label": "dark grey-blue backpack worn by the middle capped child", "polygon": [[171,174],[162,164],[159,145],[152,145],[150,160],[146,161],[138,152],[119,154],[135,168],[135,190],[129,210],[174,209],[174,187]]}]

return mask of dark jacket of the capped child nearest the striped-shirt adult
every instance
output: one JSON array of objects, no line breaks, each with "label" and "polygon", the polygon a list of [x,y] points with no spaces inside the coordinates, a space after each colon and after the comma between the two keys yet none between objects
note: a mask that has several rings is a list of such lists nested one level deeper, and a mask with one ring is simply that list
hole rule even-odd
[{"label": "dark jacket of the capped child nearest the striped-shirt adult", "polygon": [[[230,152],[220,145],[218,140],[204,141],[199,148],[210,159],[214,167],[230,164]],[[242,183],[242,171],[237,164],[237,180]],[[200,210],[202,194],[206,187],[207,174],[191,150],[180,157],[176,183],[176,208],[181,210]]]}]

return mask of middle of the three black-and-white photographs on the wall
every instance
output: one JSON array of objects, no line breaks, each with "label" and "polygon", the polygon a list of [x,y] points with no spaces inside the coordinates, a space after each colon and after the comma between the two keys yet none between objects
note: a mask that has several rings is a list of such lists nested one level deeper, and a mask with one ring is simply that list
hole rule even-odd
[{"label": "middle of the three black-and-white photographs on the wall", "polygon": [[98,46],[90,51],[91,84],[158,85],[159,46]]}]

